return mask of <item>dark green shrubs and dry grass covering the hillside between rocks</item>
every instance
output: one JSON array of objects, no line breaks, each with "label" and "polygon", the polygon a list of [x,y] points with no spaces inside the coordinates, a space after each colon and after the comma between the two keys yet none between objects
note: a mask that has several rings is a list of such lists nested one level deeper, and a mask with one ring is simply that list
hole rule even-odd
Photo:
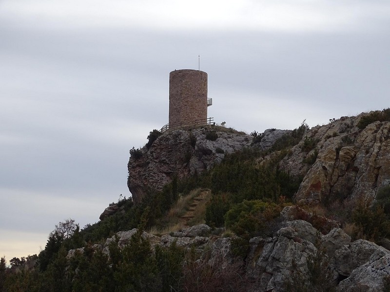
[{"label": "dark green shrubs and dry grass covering the hillside between rocks", "polygon": [[[376,121],[389,121],[389,112],[387,109],[364,115],[356,133]],[[251,238],[273,237],[281,228],[280,212],[296,203],[295,196],[302,188],[304,172],[292,172],[283,167],[283,163],[294,151],[299,152],[299,163],[307,171],[324,157],[319,145],[330,143],[330,139],[341,134],[350,137],[347,132],[336,133],[320,142],[302,123],[269,149],[260,150],[256,143],[261,141],[262,135],[253,132],[251,147],[224,155],[219,164],[202,173],[195,172],[182,179],[176,176],[161,191],[150,188],[140,202],[120,198],[116,203],[120,211],[98,223],[80,229],[72,219],[60,222],[38,256],[14,258],[10,268],[2,258],[0,291],[248,291],[253,283],[248,282],[244,263]],[[158,131],[152,131],[146,147],[153,148],[159,136]],[[350,146],[351,141],[347,144],[343,147]],[[334,146],[337,147],[339,145]],[[142,151],[133,148],[131,154],[142,155]],[[203,200],[194,204],[194,198],[200,195]],[[347,197],[340,197],[336,204],[324,203],[324,200],[319,204],[301,205],[303,209],[299,209],[302,211],[297,219],[310,222],[324,234],[332,228],[326,217],[335,219],[352,239],[388,244],[390,187],[381,187],[376,199],[358,197],[351,201]],[[183,220],[194,210],[197,216]],[[310,218],[307,214],[311,214]],[[231,263],[228,270],[209,265],[210,256],[204,256],[207,249],[199,255],[198,250],[176,243],[169,248],[158,245],[151,248],[151,239],[143,236],[145,230],[161,236],[200,223],[211,226],[211,234],[232,237],[237,263]],[[138,231],[128,244],[120,247],[117,232],[133,228]],[[107,243],[110,237],[114,239]],[[97,245],[106,246],[106,250],[96,248]],[[75,250],[72,256],[69,250]],[[325,269],[324,257],[319,256],[310,259],[313,265],[320,263],[312,267],[312,273],[321,274],[318,269]],[[292,281],[297,285],[299,279]],[[314,282],[312,285],[321,287]],[[334,291],[336,285],[337,282],[332,282],[316,291]]]}]

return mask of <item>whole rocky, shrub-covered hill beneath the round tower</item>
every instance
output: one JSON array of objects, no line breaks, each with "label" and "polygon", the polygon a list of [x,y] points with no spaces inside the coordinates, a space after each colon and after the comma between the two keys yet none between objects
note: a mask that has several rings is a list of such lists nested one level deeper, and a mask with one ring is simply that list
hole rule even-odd
[{"label": "whole rocky, shrub-covered hill beneath the round tower", "polygon": [[389,121],[387,109],[250,135],[213,126],[154,130],[146,146],[130,150],[133,199],[112,203],[82,230],[59,224],[37,265],[15,260],[0,269],[0,285],[387,291]]}]

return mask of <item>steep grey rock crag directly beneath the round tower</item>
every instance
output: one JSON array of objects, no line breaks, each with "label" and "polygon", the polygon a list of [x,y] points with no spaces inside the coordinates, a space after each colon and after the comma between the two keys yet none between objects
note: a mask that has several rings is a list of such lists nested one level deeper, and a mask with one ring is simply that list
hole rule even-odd
[{"label": "steep grey rock crag directly beneath the round tower", "polygon": [[160,191],[174,176],[181,179],[201,173],[220,163],[225,154],[251,146],[252,136],[218,128],[165,132],[149,149],[140,149],[141,157],[130,157],[127,185],[134,202],[141,201],[148,188]]}]

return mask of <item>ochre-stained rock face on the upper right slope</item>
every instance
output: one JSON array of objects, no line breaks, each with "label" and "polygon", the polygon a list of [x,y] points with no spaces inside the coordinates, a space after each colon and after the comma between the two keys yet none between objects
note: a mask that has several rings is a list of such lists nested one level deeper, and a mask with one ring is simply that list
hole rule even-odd
[{"label": "ochre-stained rock face on the upper right slope", "polygon": [[[295,196],[298,204],[329,204],[361,196],[374,199],[378,189],[389,185],[390,122],[374,122],[359,129],[363,115],[310,129],[280,163],[290,174],[304,176]],[[303,150],[309,141],[315,147]],[[314,164],[305,164],[304,159],[315,151]]]}]

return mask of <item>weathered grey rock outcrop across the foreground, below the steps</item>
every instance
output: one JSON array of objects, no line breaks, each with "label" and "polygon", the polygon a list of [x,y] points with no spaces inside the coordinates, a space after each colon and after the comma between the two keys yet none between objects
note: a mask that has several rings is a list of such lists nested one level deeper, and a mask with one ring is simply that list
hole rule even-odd
[{"label": "weathered grey rock outcrop across the foreground, below the steps", "polygon": [[[200,267],[206,271],[212,269],[216,275],[233,271],[239,275],[240,291],[386,291],[390,277],[389,250],[363,239],[352,241],[331,220],[333,228],[322,234],[294,215],[302,212],[306,211],[296,206],[285,207],[278,230],[272,237],[252,238],[244,260],[234,255],[234,236],[226,237],[223,228],[212,230],[206,224],[161,236],[144,231],[142,237],[150,242],[152,250],[175,244],[195,252]],[[309,220],[315,216],[307,212],[306,215]],[[136,232],[137,229],[118,232],[93,249],[110,255],[110,244],[117,242],[123,248]],[[78,253],[83,254],[84,248],[70,250],[67,258]],[[236,284],[233,279],[225,281],[230,283],[229,287]]]}]

